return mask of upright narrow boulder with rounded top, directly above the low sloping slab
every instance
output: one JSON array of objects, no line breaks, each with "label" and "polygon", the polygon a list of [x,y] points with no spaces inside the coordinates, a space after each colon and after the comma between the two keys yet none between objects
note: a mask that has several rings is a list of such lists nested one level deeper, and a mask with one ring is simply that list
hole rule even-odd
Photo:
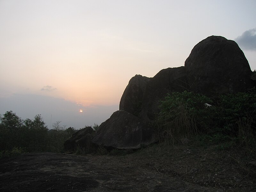
[{"label": "upright narrow boulder with rounded top, directly above the low sloping slab", "polygon": [[119,110],[138,116],[141,111],[142,97],[149,77],[135,75],[129,81],[120,100]]}]

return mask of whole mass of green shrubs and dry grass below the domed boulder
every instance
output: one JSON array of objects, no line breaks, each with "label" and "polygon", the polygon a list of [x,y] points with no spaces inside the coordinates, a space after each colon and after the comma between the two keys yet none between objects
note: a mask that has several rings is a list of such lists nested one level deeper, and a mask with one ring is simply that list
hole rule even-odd
[{"label": "whole mass of green shrubs and dry grass below the domed boulder", "polygon": [[184,143],[224,143],[221,148],[243,148],[256,157],[256,90],[220,95],[218,100],[193,92],[172,92],[160,101],[159,140]]}]

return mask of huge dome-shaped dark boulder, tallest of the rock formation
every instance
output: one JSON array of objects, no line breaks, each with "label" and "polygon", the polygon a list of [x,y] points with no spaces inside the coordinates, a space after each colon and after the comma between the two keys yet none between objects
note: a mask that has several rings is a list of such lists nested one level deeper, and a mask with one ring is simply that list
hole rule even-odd
[{"label": "huge dome-shaped dark boulder, tallest of the rock formation", "polygon": [[251,68],[235,41],[209,36],[192,49],[185,61],[191,91],[217,98],[252,87]]}]

